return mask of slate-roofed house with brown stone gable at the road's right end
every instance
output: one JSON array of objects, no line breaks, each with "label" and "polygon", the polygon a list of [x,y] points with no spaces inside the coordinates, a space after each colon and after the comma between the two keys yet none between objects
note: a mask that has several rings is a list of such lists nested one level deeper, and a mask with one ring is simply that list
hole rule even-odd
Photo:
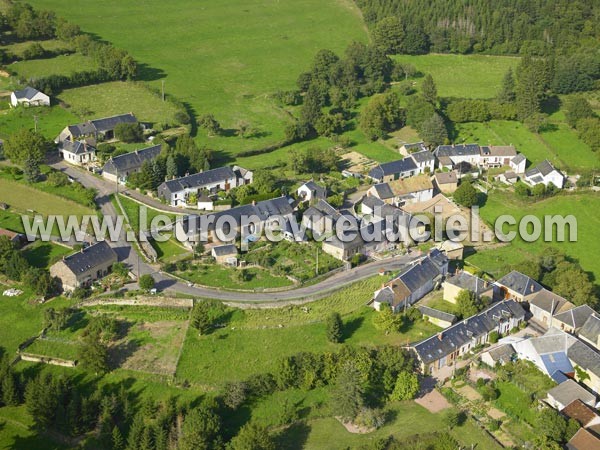
[{"label": "slate-roofed house with brown stone gable at the road's right end", "polygon": [[379,311],[381,305],[387,303],[392,311],[402,311],[439,286],[447,273],[448,258],[433,249],[375,291],[371,305]]}]

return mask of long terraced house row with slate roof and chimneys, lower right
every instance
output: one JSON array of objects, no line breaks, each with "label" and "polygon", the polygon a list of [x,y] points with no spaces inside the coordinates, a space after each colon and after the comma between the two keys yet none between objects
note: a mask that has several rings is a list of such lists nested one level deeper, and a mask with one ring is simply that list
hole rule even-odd
[{"label": "long terraced house row with slate roof and chimneys, lower right", "polygon": [[514,300],[504,300],[412,345],[410,349],[419,361],[421,373],[436,376],[471,349],[487,343],[492,331],[506,334],[524,320],[525,311],[521,305]]}]

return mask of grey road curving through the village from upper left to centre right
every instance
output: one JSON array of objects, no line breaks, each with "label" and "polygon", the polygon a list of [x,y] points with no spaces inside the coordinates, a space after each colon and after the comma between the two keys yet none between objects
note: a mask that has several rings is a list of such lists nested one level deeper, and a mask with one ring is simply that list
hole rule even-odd
[{"label": "grey road curving through the village from upper left to centre right", "polygon": [[[67,175],[79,181],[85,187],[96,189],[98,191],[96,203],[98,204],[102,215],[112,217],[117,216],[117,211],[110,201],[110,195],[115,192],[115,184],[110,183],[103,178],[97,177],[90,172],[70,166],[63,161],[54,163],[52,166],[57,170],[65,172]],[[112,242],[111,245],[117,252],[119,260],[128,264],[134,274],[151,274],[156,281],[156,287],[161,291],[178,292],[181,294],[214,298],[231,302],[258,303],[285,302],[306,299],[316,300],[350,283],[369,278],[379,273],[380,269],[382,268],[388,271],[397,271],[419,258],[419,255],[404,255],[382,261],[375,261],[354,269],[338,272],[331,277],[313,285],[303,286],[287,291],[238,292],[189,285],[188,283],[184,283],[170,276],[169,274],[158,270],[157,267],[147,264],[141,257],[139,257],[137,252],[131,247],[131,243],[126,241],[124,230],[121,233],[118,242]]]}]

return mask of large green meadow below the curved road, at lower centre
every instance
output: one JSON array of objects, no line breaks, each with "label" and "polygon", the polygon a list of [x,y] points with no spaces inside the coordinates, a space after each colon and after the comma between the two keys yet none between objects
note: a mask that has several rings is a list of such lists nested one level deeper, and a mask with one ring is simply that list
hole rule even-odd
[{"label": "large green meadow below the curved road, at lower centre", "polygon": [[[298,352],[336,351],[339,345],[327,340],[324,320],[340,311],[344,321],[344,343],[350,345],[405,345],[435,334],[439,328],[418,321],[401,333],[385,334],[373,325],[377,314],[365,306],[378,278],[359,282],[331,296],[302,307],[234,311],[229,323],[199,336],[188,329],[177,378],[200,386],[221,386],[275,369],[277,361]],[[321,305],[322,303],[322,305]]]}]

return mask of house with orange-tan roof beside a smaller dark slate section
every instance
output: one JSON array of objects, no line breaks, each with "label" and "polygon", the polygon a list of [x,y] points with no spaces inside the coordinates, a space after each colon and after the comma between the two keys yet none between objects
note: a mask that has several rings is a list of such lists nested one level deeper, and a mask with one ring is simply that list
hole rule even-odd
[{"label": "house with orange-tan roof beside a smaller dark slate section", "polygon": [[367,191],[367,195],[377,197],[394,206],[419,203],[433,198],[433,184],[428,175],[417,175],[401,180],[379,183]]}]

